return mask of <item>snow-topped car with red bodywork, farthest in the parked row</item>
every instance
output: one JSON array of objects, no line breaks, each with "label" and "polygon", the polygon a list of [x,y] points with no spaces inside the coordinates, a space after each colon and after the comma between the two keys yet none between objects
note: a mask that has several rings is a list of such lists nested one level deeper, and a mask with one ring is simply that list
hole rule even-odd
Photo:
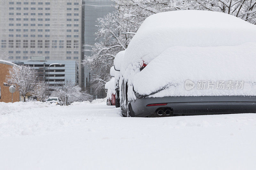
[{"label": "snow-topped car with red bodywork, farthest in the parked row", "polygon": [[116,105],[116,94],[115,94],[115,78],[112,77],[110,81],[105,84],[107,89],[107,105]]}]

